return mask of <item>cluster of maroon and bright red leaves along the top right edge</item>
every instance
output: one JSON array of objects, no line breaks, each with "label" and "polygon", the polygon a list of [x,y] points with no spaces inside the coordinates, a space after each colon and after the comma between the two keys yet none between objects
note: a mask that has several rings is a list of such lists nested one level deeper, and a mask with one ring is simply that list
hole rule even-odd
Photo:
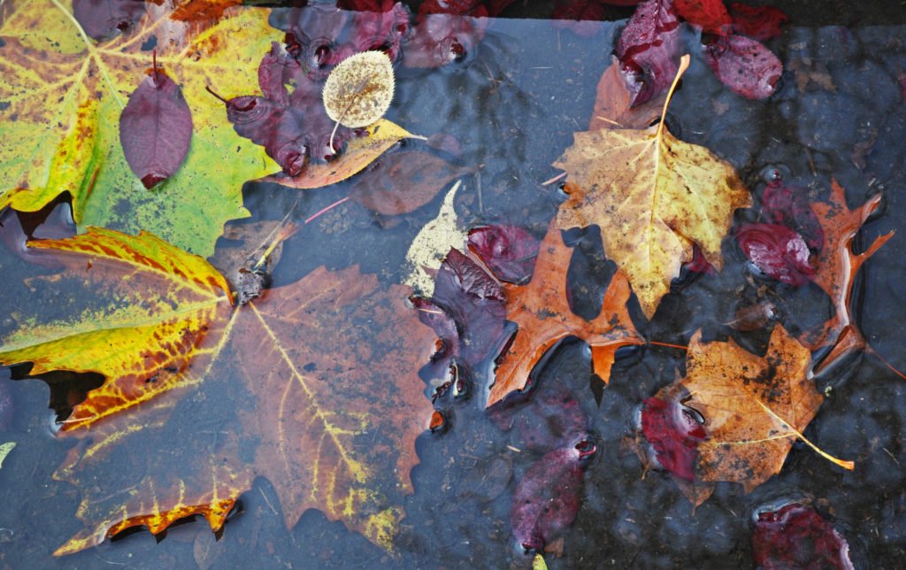
[{"label": "cluster of maroon and bright red leaves along the top right edge", "polygon": [[[749,99],[774,93],[783,64],[757,40],[779,33],[783,13],[733,5],[731,15],[723,0],[645,0],[623,29],[616,49],[633,105],[664,92],[676,75],[680,18],[702,30],[705,60],[730,90]],[[747,33],[757,39],[740,35]]]}]

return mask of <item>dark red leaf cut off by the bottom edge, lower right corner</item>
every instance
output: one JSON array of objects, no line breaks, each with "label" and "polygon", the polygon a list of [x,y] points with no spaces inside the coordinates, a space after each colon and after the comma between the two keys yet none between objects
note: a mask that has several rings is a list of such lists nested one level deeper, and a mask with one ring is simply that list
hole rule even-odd
[{"label": "dark red leaf cut off by the bottom edge, lower right corner", "polygon": [[824,517],[799,503],[758,513],[752,554],[764,570],[853,568],[846,539]]}]

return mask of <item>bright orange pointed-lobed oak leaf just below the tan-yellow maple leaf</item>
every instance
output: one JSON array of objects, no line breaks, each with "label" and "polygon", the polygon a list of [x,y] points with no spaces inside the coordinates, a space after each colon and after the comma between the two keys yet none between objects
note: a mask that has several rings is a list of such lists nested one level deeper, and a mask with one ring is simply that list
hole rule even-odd
[{"label": "bright orange pointed-lobed oak leaf just below the tan-yellow maple leaf", "polygon": [[586,321],[573,313],[566,300],[566,270],[572,255],[553,221],[538,246],[532,280],[528,285],[503,284],[506,319],[519,328],[497,366],[488,407],[511,391],[524,389],[535,364],[568,336],[581,338],[592,347],[593,372],[604,382],[610,379],[613,355],[620,347],[644,343],[626,308],[630,288],[622,272],[613,275],[598,316]]}]

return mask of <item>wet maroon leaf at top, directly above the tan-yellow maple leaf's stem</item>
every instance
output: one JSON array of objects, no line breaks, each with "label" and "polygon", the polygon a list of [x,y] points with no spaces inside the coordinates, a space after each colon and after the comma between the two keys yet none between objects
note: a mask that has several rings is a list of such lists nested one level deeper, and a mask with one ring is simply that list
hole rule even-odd
[{"label": "wet maroon leaf at top, directly above the tan-yellow maple leaf's stem", "polygon": [[679,69],[679,19],[671,0],[646,0],[636,8],[617,42],[632,104],[667,89]]}]

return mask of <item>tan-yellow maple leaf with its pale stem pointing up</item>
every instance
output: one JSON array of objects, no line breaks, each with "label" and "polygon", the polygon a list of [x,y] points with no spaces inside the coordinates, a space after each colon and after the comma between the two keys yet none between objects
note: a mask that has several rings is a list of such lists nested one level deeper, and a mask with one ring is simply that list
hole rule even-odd
[{"label": "tan-yellow maple leaf with its pale stem pointing up", "polygon": [[628,275],[649,318],[679,266],[692,258],[693,244],[711,265],[723,265],[720,242],[733,211],[751,203],[727,161],[664,126],[670,95],[688,66],[684,56],[657,126],[576,132],[573,146],[554,162],[567,173],[569,194],[558,226],[601,227],[604,253]]}]

